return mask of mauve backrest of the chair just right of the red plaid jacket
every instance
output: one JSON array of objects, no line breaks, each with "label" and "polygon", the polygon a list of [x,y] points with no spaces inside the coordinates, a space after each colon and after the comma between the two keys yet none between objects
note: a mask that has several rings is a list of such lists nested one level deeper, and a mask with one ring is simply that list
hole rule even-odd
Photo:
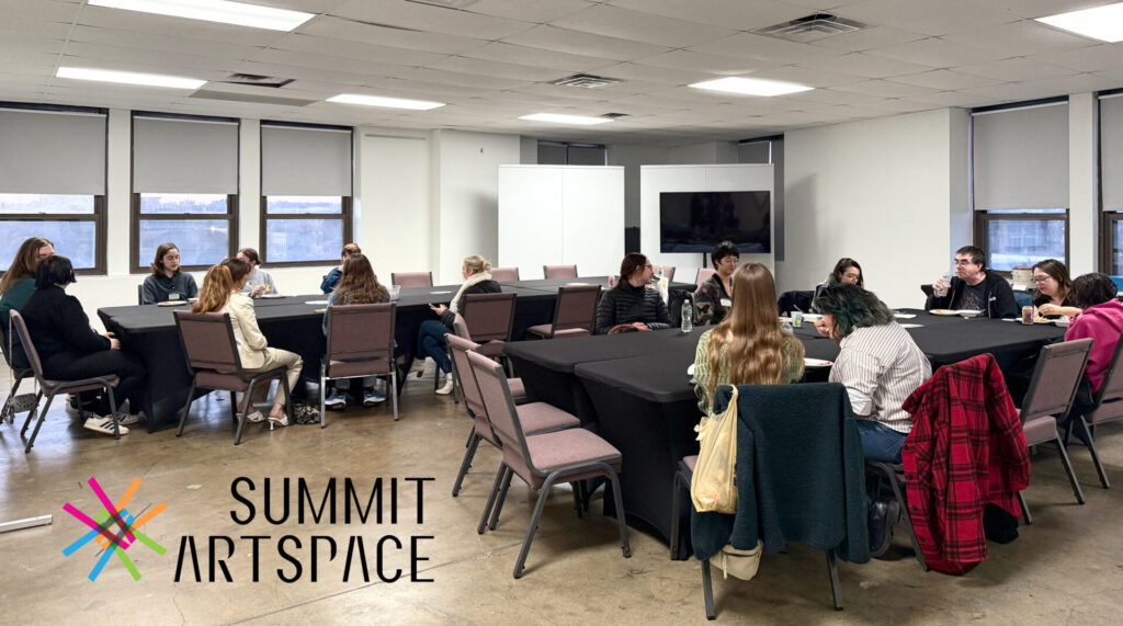
[{"label": "mauve backrest of the chair just right of the red plaid jacket", "polygon": [[1030,388],[1022,401],[1023,422],[1033,417],[1068,413],[1072,407],[1072,398],[1076,397],[1090,351],[1090,339],[1065,341],[1041,348]]}]

